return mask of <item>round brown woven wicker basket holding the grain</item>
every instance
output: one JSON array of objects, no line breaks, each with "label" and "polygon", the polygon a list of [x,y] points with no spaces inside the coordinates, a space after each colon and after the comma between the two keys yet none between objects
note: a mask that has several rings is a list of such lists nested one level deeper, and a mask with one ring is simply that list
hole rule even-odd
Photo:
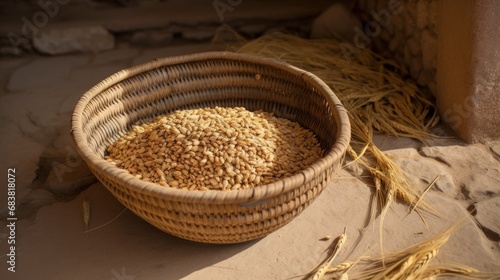
[{"label": "round brown woven wicker basket holding the grain", "polygon": [[[133,125],[214,106],[274,112],[312,130],[327,152],[293,176],[237,191],[166,188],[103,159]],[[72,136],[102,184],[153,226],[193,241],[238,243],[287,224],[321,193],[344,158],[350,125],[340,101],[311,73],[273,59],[209,52],[156,59],[106,78],[78,101]]]}]

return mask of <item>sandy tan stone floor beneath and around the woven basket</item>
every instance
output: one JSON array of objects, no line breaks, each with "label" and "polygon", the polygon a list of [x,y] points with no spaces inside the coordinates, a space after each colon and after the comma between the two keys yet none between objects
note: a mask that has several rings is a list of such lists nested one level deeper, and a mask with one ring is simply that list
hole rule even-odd
[{"label": "sandy tan stone floor beneath and around the woven basket", "polygon": [[[5,223],[7,182],[1,187],[0,279],[299,279],[327,255],[347,227],[338,260],[392,252],[466,223],[442,247],[435,262],[459,262],[500,271],[500,142],[467,145],[454,138],[427,146],[377,136],[378,146],[406,172],[419,191],[439,175],[426,198],[441,217],[394,203],[353,244],[369,215],[369,181],[340,170],[320,197],[278,231],[235,245],[181,240],[149,225],[122,206],[75,154],[69,134],[78,98],[106,76],[155,57],[213,49],[206,44],[161,49],[117,47],[100,54],[26,55],[0,60],[0,172],[15,168],[15,272],[7,261],[11,236]],[[91,204],[85,233],[82,202]],[[467,210],[472,214],[468,214]]]}]

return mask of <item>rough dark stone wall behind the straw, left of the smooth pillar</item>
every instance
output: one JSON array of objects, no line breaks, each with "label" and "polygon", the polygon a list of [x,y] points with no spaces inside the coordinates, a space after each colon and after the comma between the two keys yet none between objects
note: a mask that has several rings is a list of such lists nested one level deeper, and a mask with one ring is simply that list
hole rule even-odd
[{"label": "rough dark stone wall behind the straw, left of the smooth pillar", "polygon": [[[354,12],[365,23],[374,49],[436,94],[438,1],[358,0]],[[366,30],[369,22],[374,23]]]}]

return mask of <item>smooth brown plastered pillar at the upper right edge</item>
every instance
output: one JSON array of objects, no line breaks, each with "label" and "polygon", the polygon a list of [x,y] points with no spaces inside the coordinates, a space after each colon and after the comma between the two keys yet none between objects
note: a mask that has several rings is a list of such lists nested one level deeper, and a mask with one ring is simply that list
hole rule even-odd
[{"label": "smooth brown plastered pillar at the upper right edge", "polygon": [[437,106],[467,142],[500,139],[500,1],[441,0]]}]

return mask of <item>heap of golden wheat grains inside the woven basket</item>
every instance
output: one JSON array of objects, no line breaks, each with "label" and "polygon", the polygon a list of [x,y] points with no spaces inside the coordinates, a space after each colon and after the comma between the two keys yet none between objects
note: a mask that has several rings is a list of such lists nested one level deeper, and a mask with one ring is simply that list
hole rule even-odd
[{"label": "heap of golden wheat grains inside the woven basket", "polygon": [[179,110],[134,126],[106,158],[137,178],[187,190],[238,190],[290,176],[323,156],[298,123],[245,108]]}]

